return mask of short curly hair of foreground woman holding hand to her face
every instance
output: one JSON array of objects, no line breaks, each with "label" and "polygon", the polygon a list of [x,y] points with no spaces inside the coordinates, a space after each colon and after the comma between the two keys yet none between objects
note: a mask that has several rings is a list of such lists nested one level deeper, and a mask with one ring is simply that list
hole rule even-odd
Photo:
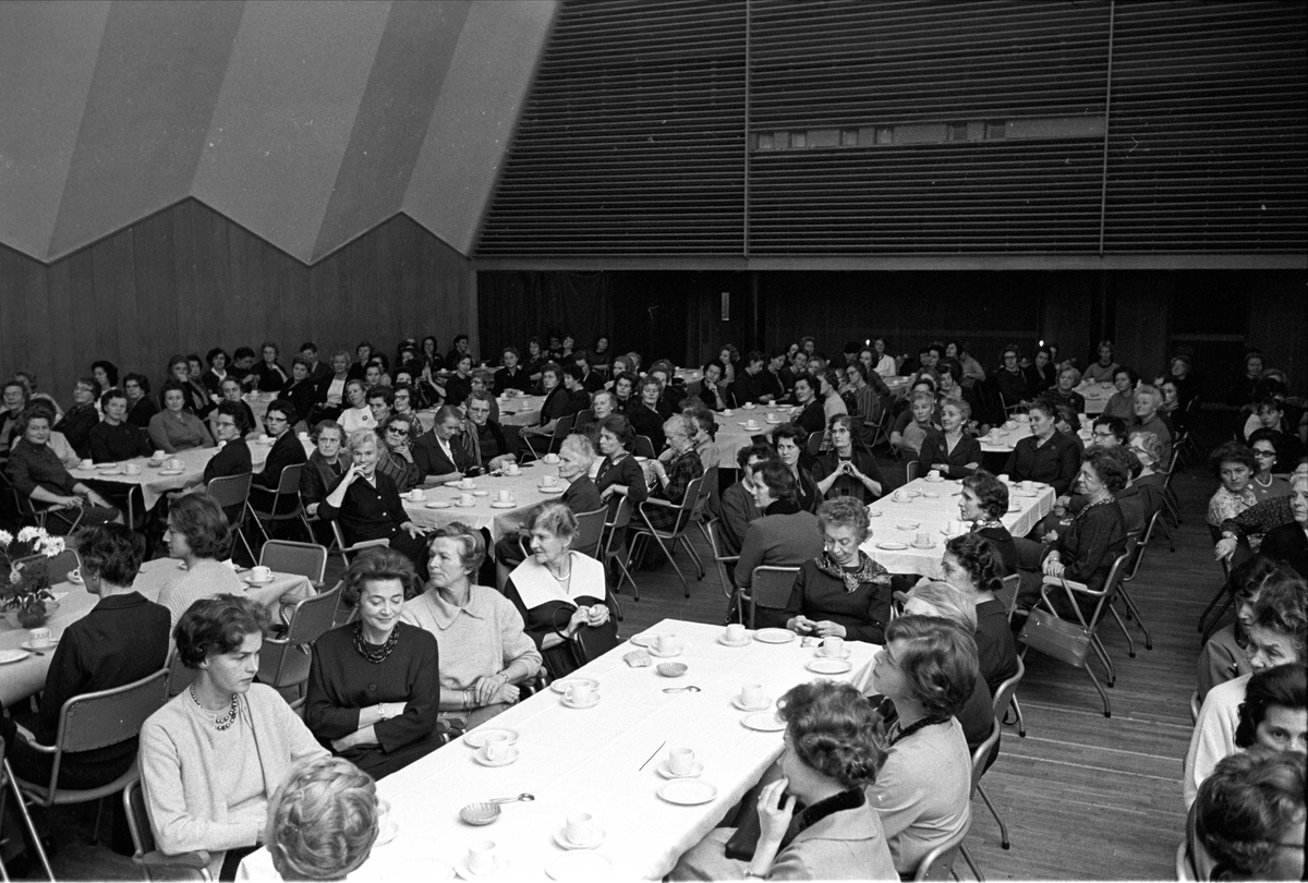
[{"label": "short curly hair of foreground woman holding hand to her face", "polygon": [[886,763],[876,709],[850,684],[812,680],[791,687],[777,702],[790,750],[804,765],[842,788],[876,781]]}]

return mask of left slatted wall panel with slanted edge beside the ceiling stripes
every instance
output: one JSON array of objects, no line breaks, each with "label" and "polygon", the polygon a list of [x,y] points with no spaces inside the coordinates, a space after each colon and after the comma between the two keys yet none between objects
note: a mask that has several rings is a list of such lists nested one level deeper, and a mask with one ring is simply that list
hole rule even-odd
[{"label": "left slatted wall panel with slanted edge beside the ceiling stripes", "polygon": [[479,256],[743,247],[744,0],[557,13]]}]

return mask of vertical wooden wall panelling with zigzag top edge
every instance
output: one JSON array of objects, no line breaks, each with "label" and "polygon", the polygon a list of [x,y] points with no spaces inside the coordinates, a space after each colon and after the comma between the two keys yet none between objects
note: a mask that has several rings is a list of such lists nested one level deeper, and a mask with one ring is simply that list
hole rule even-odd
[{"label": "vertical wooden wall panelling with zigzag top edge", "polygon": [[188,199],[48,267],[0,247],[0,373],[27,368],[60,402],[107,358],[158,383],[174,353],[281,347],[322,357],[370,340],[476,338],[468,262],[405,216],[313,267]]}]

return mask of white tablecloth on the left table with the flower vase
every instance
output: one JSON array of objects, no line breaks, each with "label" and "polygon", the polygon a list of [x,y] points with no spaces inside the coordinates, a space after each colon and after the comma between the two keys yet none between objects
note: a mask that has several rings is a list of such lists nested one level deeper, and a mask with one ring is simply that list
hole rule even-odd
[{"label": "white tablecloth on the left table with the flower vase", "polygon": [[[141,565],[141,572],[132,587],[149,600],[158,600],[160,591],[179,572],[179,563],[173,559],[146,561]],[[281,603],[293,603],[314,594],[313,585],[301,576],[293,573],[273,573],[272,576],[273,580],[267,586],[247,589],[251,598],[269,608]],[[59,610],[46,621],[46,627],[56,638],[99,602],[99,598],[86,591],[85,586],[72,582],[52,586],[51,591],[56,595],[67,593],[59,600]],[[12,628],[7,619],[0,617],[0,650],[17,650],[18,645],[26,640],[27,629]],[[55,650],[51,648],[44,650],[44,655],[29,655],[26,659],[0,666],[0,701],[5,706],[10,706],[43,689],[46,672],[50,670],[50,661],[54,655]]]}]

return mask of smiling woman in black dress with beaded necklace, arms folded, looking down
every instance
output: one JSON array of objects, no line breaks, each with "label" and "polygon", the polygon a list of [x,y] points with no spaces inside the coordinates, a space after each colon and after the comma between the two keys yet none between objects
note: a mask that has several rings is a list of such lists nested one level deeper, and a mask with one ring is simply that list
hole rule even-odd
[{"label": "smiling woman in black dress with beaded necklace, arms folded, looking down", "polygon": [[356,621],[314,642],[305,723],[334,753],[377,778],[439,748],[436,638],[400,621],[417,573],[395,549],[360,553],[341,586]]}]

